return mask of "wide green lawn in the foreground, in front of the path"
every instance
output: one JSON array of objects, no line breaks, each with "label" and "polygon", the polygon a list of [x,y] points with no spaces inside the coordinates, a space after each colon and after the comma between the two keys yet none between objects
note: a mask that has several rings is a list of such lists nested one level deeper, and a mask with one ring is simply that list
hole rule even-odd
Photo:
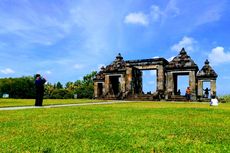
[{"label": "wide green lawn in the foreground, in front of the path", "polygon": [[137,102],[0,111],[0,152],[230,152],[230,104]]}]

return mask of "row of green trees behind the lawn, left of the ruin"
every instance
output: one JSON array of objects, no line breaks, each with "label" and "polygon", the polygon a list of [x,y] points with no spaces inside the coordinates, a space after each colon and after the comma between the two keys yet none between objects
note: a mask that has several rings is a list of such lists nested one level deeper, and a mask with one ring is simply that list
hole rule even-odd
[{"label": "row of green trees behind the lawn, left of the ruin", "polygon": [[[93,98],[93,78],[96,71],[83,77],[82,80],[67,82],[63,86],[60,82],[45,84],[44,98],[69,99],[69,98]],[[20,78],[0,79],[0,97],[8,94],[9,98],[32,99],[35,97],[35,77],[24,76]]]}]

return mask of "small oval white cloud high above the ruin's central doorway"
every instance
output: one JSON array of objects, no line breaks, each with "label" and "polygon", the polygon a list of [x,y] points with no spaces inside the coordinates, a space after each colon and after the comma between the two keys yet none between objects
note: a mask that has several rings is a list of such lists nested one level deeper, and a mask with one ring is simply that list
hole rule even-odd
[{"label": "small oval white cloud high above the ruin's central doorway", "polygon": [[149,24],[148,16],[142,12],[138,13],[130,13],[125,17],[125,23],[130,24],[139,24],[143,26],[147,26]]}]

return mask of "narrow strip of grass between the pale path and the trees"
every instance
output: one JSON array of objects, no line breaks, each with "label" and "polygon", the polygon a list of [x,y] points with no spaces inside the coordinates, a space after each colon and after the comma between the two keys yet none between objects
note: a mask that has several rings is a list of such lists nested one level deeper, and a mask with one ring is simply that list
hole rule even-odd
[{"label": "narrow strip of grass between the pale path and the trees", "polygon": [[[44,99],[43,106],[59,105],[59,104],[79,104],[79,103],[95,103],[104,102],[105,100],[94,99]],[[34,99],[3,99],[0,98],[0,107],[14,107],[14,106],[34,106]]]}]

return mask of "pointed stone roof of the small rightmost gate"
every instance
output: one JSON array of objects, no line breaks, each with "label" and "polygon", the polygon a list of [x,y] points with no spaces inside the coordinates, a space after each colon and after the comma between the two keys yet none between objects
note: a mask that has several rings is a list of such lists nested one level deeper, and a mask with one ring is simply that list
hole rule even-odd
[{"label": "pointed stone roof of the small rightmost gate", "polygon": [[213,70],[213,68],[209,65],[209,61],[206,59],[204,62],[204,66],[197,73],[197,77],[199,78],[214,78],[216,79],[218,75]]}]

